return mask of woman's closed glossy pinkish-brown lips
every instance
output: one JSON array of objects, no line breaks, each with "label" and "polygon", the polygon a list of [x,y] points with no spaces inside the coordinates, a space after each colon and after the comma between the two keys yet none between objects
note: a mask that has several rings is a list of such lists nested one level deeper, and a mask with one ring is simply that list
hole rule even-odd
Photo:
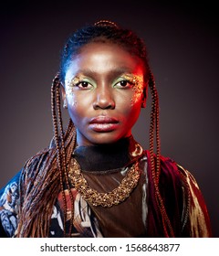
[{"label": "woman's closed glossy pinkish-brown lips", "polygon": [[90,120],[89,128],[94,132],[107,133],[117,129],[119,120],[110,116],[97,116]]}]

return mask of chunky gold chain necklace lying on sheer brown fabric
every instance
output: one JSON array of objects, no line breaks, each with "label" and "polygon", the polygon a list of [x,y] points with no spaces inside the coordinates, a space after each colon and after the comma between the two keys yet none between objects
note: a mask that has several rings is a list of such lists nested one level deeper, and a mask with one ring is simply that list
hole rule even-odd
[{"label": "chunky gold chain necklace lying on sheer brown fabric", "polygon": [[80,166],[75,158],[71,159],[68,176],[73,186],[78,190],[81,196],[92,206],[101,206],[110,208],[118,205],[130,196],[131,191],[138,185],[140,179],[138,161],[131,165],[128,174],[121,180],[120,186],[114,188],[108,193],[99,193],[97,190],[89,187],[87,180],[81,173]]}]

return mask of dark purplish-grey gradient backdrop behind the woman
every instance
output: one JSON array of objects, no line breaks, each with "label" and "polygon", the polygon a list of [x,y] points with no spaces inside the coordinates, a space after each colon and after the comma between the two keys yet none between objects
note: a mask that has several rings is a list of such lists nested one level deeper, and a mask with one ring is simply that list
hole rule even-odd
[{"label": "dark purplish-grey gradient backdrop behind the woman", "polygon": [[[0,187],[53,135],[50,85],[66,38],[78,27],[107,18],[145,40],[160,95],[162,155],[195,176],[214,237],[219,237],[216,6],[211,1],[192,1],[193,7],[183,1],[174,5],[166,1],[13,2],[0,4]],[[144,147],[148,147],[150,103],[133,131]]]}]

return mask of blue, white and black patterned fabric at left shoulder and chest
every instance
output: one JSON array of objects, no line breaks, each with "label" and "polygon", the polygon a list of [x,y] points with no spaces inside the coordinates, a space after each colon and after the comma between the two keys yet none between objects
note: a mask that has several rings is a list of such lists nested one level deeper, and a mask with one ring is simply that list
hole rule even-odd
[{"label": "blue, white and black patterned fabric at left shoulder and chest", "polygon": [[[1,190],[0,197],[0,237],[14,237],[17,228],[17,204],[19,176],[16,176],[11,183]],[[75,219],[73,237],[102,237],[99,232],[98,224],[94,216],[92,216],[89,205],[80,197],[77,190],[72,188],[72,194],[75,199]],[[68,200],[68,211],[70,210],[68,190],[65,190]],[[63,237],[63,200],[59,193],[57,203],[53,208],[51,216],[51,227],[49,229],[49,237]],[[68,222],[70,215],[68,215]]]}]

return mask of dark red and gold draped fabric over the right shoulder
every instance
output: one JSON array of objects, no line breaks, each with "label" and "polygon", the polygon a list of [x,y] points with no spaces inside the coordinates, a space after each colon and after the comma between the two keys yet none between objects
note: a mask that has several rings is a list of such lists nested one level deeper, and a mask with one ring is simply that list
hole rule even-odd
[{"label": "dark red and gold draped fabric over the right shoulder", "polygon": [[[150,153],[146,152],[148,176],[152,181]],[[154,155],[156,163],[156,155]],[[160,156],[159,188],[167,212],[172,219],[177,216],[174,207],[183,223],[183,236],[211,237],[211,223],[202,191],[193,174],[183,165],[168,156]],[[151,182],[153,184],[153,182]]]}]

